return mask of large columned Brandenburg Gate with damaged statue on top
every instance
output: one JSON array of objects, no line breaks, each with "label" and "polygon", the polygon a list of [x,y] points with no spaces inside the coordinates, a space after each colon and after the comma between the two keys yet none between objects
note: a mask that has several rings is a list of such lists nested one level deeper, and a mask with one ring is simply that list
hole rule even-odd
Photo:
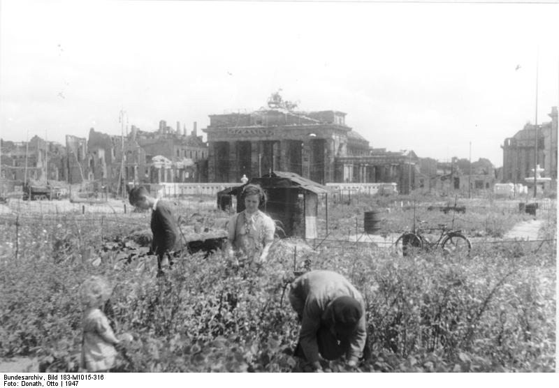
[{"label": "large columned Brandenburg Gate with damaged statue on top", "polygon": [[[410,187],[413,151],[371,149],[347,126],[337,110],[303,112],[279,93],[268,106],[249,113],[210,115],[208,179],[236,182],[243,174],[261,177],[273,171],[294,172],[319,184],[397,182]],[[412,181],[413,181],[412,177]]]}]

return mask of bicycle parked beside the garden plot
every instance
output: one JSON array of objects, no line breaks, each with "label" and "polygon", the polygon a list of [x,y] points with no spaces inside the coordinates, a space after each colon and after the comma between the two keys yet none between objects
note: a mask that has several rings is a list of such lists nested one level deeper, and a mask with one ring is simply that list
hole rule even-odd
[{"label": "bicycle parked beside the garden plot", "polygon": [[[426,223],[419,221],[420,224]],[[421,232],[429,230],[440,230],[441,234],[437,241],[430,241]],[[425,227],[417,229],[414,232],[403,233],[394,243],[395,251],[398,255],[408,256],[416,251],[432,251],[433,249],[442,248],[445,255],[469,255],[472,249],[472,243],[465,237],[460,230],[453,230],[446,224],[438,224],[438,227]]]}]

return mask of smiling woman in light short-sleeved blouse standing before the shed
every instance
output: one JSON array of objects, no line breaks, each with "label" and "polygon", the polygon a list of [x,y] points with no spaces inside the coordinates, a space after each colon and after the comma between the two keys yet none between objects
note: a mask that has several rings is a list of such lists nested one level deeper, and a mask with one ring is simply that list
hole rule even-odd
[{"label": "smiling woman in light short-sleeved blouse standing before the shed", "polygon": [[259,210],[266,203],[266,193],[255,184],[242,190],[240,199],[245,210],[235,214],[228,223],[227,253],[230,258],[263,263],[274,241],[275,223]]}]

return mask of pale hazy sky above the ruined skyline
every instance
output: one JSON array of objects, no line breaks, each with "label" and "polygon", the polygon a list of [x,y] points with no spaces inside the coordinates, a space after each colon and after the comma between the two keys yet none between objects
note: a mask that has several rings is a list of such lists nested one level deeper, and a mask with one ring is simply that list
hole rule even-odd
[{"label": "pale hazy sky above the ruined skyline", "polygon": [[0,0],[0,135],[117,135],[121,109],[201,129],[282,89],[372,147],[445,161],[471,141],[500,166],[535,120],[537,58],[538,123],[559,103],[558,21],[553,3]]}]

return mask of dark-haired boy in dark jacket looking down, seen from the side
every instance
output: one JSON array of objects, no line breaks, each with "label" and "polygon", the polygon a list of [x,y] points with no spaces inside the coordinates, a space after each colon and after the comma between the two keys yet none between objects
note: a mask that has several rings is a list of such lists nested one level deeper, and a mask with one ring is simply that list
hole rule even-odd
[{"label": "dark-haired boy in dark jacket looking down, seen from the side", "polygon": [[167,264],[173,265],[182,251],[182,239],[180,238],[177,221],[170,210],[169,205],[156,199],[148,193],[144,186],[132,188],[129,193],[130,204],[140,209],[152,209],[152,252],[157,255],[157,276],[164,274],[163,267]]}]

